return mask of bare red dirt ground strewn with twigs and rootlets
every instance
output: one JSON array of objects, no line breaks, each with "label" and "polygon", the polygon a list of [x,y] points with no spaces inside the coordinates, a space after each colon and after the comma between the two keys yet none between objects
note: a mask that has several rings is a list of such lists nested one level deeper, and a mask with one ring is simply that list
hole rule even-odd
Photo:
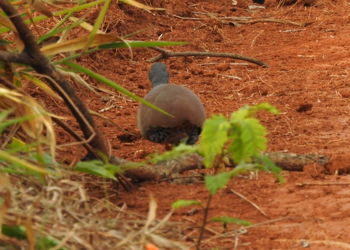
[{"label": "bare red dirt ground strewn with twigs and rootlets", "polygon": [[[322,174],[322,168],[320,171],[320,167],[312,165],[305,167],[304,172],[284,171],[284,185],[267,173],[259,173],[258,178],[252,179],[233,178],[230,185],[213,198],[209,218],[227,215],[253,223],[267,222],[238,235],[238,249],[302,249],[302,241],[309,243],[310,250],[350,249],[350,177],[346,175],[350,169],[347,136],[350,124],[348,1],[320,1],[313,7],[301,3],[278,7],[274,0],[266,0],[262,5],[265,9],[249,12],[247,6],[253,3],[247,0],[238,0],[239,7],[232,6],[231,0],[151,0],[146,4],[167,8],[170,13],[151,13],[112,2],[104,24],[105,31],[124,36],[149,27],[131,38],[158,40],[162,34],[162,41],[190,42],[185,46],[166,48],[168,50],[238,53],[264,61],[268,68],[251,63],[231,65],[245,62],[214,57],[162,60],[168,66],[171,83],[186,85],[193,90],[204,103],[207,117],[218,113],[229,116],[244,105],[267,101],[281,112],[280,115],[259,114],[268,131],[267,151],[317,153],[332,157],[330,174]],[[94,10],[91,23],[98,11],[99,8]],[[258,22],[235,27],[193,12],[219,13],[218,16],[228,17],[269,16],[314,23],[299,27]],[[205,19],[185,20],[174,15]],[[287,30],[299,31],[283,32]],[[83,56],[79,63],[144,97],[151,89],[148,80],[151,63],[147,60],[156,55],[158,52],[151,49],[134,49],[131,60],[127,49],[107,50]],[[91,85],[106,88],[89,81]],[[94,111],[117,105],[100,113],[124,130],[140,135],[136,122],[138,102],[122,98],[118,93],[114,102],[102,102],[90,92],[87,95],[90,99],[81,94],[88,108]],[[114,156],[140,161],[156,150],[163,151],[161,145],[130,137],[106,122],[99,120],[98,125],[109,140]],[[59,143],[69,141],[71,139],[64,134],[58,138]],[[336,170],[344,174],[332,175]],[[89,188],[91,197],[105,197],[103,187]],[[266,215],[232,193],[231,189],[256,203]],[[112,188],[110,192],[114,192]],[[177,199],[197,199],[205,203],[208,198],[203,183],[147,182],[135,191],[117,192],[111,201],[126,203],[129,210],[146,214],[149,192],[158,201],[158,218],[164,217]],[[198,208],[194,215],[187,215],[189,209],[176,211],[171,220],[199,225],[203,210]],[[224,229],[218,224],[209,224],[208,227],[217,235],[214,231],[207,231],[204,240],[212,238],[203,243],[201,249],[234,248],[233,235],[220,237]],[[234,228],[229,225],[227,230]],[[198,228],[192,230],[192,233],[187,232],[193,234],[186,239],[189,244],[198,235]]]}]

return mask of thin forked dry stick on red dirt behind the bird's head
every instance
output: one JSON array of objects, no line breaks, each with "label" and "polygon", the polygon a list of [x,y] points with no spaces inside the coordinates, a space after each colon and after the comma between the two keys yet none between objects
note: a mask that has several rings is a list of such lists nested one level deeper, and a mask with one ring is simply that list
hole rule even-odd
[{"label": "thin forked dry stick on red dirt behind the bird's head", "polygon": [[148,60],[148,62],[151,62],[151,63],[154,63],[160,59],[166,59],[169,57],[201,56],[201,57],[225,57],[225,58],[231,58],[231,59],[238,59],[245,62],[257,64],[259,66],[262,66],[263,68],[269,67],[266,63],[262,62],[259,59],[248,57],[248,56],[242,56],[235,53],[216,53],[216,52],[199,52],[199,51],[172,52],[172,51],[167,51],[158,47],[150,47],[150,48],[160,52],[158,56]]}]

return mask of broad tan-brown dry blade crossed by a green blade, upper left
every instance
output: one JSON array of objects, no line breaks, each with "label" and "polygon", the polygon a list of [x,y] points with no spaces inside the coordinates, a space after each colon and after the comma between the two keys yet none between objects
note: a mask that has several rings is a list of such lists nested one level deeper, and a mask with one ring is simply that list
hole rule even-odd
[{"label": "broad tan-brown dry blade crossed by a green blade, upper left", "polygon": [[[76,51],[84,49],[86,42],[89,39],[89,35],[78,37],[69,41],[64,41],[62,43],[55,43],[44,46],[41,48],[41,52],[44,55],[56,55],[62,52]],[[110,34],[96,34],[90,44],[91,47],[95,47],[101,44],[121,42],[121,39],[117,36]]]}]

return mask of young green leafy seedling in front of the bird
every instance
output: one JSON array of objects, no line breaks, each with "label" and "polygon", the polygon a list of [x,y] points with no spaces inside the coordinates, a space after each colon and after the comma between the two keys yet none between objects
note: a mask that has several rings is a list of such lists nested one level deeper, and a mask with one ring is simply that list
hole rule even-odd
[{"label": "young green leafy seedling in front of the bird", "polygon": [[[233,217],[214,217],[208,221],[208,210],[211,198],[218,190],[223,189],[229,180],[240,173],[247,171],[272,172],[276,178],[283,182],[277,167],[267,156],[262,155],[266,150],[267,139],[266,129],[255,117],[260,110],[266,110],[278,114],[278,110],[268,103],[261,103],[254,106],[245,106],[231,114],[229,119],[222,114],[213,115],[207,119],[203,126],[201,142],[194,147],[180,145],[161,156],[155,156],[154,160],[164,159],[163,157],[178,157],[189,153],[197,153],[203,156],[203,163],[206,168],[214,170],[213,174],[204,177],[205,187],[208,190],[208,201],[203,206],[196,200],[178,200],[172,204],[172,208],[183,206],[200,205],[204,207],[204,216],[200,235],[197,242],[197,250],[200,248],[204,227],[209,221],[236,223],[249,225],[250,222]],[[231,171],[224,171],[225,165],[235,165]]]}]

